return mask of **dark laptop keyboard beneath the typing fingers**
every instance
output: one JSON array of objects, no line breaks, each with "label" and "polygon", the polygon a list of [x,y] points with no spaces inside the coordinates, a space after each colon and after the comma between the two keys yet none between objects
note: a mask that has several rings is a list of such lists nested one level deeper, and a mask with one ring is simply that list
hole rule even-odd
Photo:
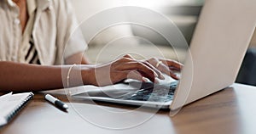
[{"label": "dark laptop keyboard beneath the typing fingers", "polygon": [[165,103],[173,99],[177,83],[178,81],[173,81],[158,85],[151,82],[129,82],[131,86],[140,90],[125,94],[122,99]]}]

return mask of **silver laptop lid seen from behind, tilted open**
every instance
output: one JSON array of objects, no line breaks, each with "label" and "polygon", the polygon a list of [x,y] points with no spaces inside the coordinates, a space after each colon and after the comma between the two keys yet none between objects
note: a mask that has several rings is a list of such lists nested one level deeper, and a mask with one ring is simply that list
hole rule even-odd
[{"label": "silver laptop lid seen from behind, tilted open", "polygon": [[170,109],[235,81],[255,24],[254,0],[206,0]]}]

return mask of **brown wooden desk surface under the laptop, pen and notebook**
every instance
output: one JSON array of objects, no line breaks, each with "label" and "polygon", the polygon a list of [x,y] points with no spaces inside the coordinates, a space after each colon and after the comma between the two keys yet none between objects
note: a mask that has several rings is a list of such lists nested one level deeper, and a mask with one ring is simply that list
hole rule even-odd
[{"label": "brown wooden desk surface under the laptop, pen and notebook", "polygon": [[[67,100],[65,96],[58,97]],[[127,106],[112,105],[113,108],[107,104],[103,106],[80,102],[73,103],[73,107],[72,103],[68,103],[71,108],[65,113],[45,102],[41,93],[36,93],[32,102],[9,125],[4,126],[0,133],[255,133],[255,102],[256,87],[234,84],[185,106],[174,117],[170,117],[168,111],[154,114],[149,109],[131,110]],[[76,111],[86,117],[83,119]],[[152,117],[148,118],[150,116]],[[125,129],[125,126],[128,128]]]}]

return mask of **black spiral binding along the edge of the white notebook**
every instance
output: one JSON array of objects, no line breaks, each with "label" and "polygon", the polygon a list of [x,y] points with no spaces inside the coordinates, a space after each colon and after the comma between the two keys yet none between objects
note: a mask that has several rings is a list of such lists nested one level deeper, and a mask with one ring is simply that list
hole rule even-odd
[{"label": "black spiral binding along the edge of the white notebook", "polygon": [[11,113],[9,113],[7,116],[6,116],[6,120],[9,122],[10,120],[13,119],[13,117],[15,116],[15,114],[18,114],[20,112],[21,109],[23,109],[26,104],[33,98],[34,94],[33,93],[30,93],[26,99],[24,99]]}]

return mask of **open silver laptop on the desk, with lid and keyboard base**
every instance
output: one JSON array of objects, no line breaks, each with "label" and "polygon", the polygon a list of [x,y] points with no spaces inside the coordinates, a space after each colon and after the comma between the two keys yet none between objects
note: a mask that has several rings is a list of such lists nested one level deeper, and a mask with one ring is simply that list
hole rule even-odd
[{"label": "open silver laptop on the desk, with lid and keyboard base", "polygon": [[255,24],[256,1],[206,0],[179,81],[84,86],[91,90],[74,92],[72,97],[158,109],[182,108],[235,82]]}]

